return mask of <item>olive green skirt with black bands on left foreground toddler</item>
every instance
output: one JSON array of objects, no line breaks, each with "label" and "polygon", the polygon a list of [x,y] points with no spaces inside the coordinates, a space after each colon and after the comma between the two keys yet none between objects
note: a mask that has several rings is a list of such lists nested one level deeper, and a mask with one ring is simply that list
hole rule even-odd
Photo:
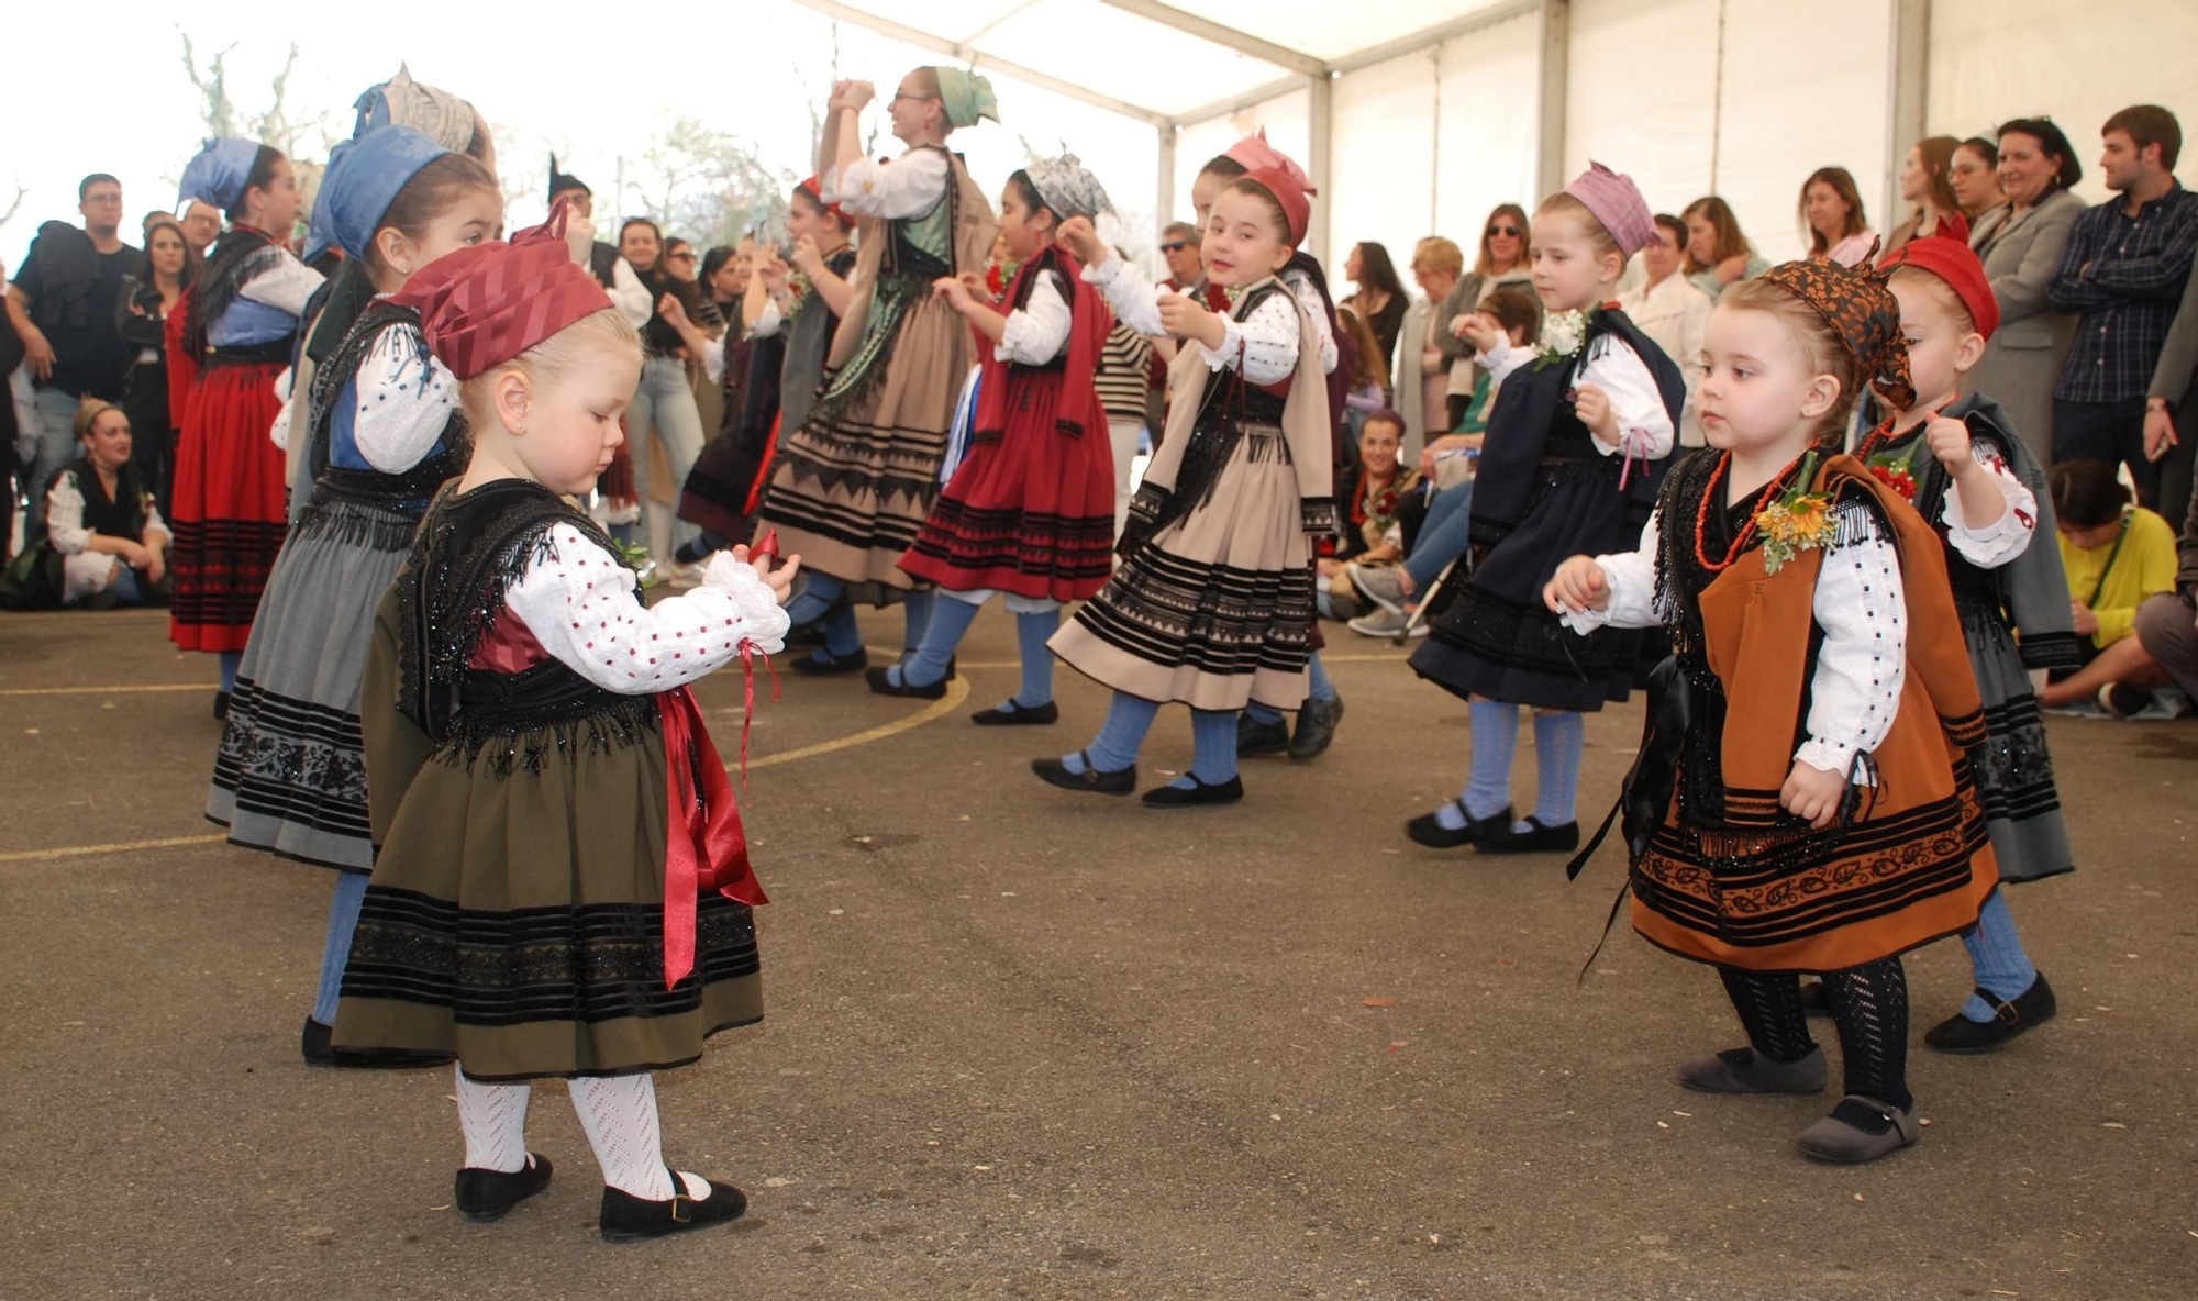
[{"label": "olive green skirt with black bands on left foreground toddler", "polygon": [[695,1061],[706,1037],[763,1018],[754,916],[714,892],[697,903],[695,969],[664,987],[653,714],[444,745],[398,789],[338,1046],[455,1053],[475,1079],[626,1075]]}]

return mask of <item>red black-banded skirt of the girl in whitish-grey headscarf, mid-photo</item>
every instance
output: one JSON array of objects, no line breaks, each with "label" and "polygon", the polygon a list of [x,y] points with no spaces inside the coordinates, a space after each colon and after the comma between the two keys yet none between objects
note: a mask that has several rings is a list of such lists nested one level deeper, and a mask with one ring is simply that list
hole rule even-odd
[{"label": "red black-banded skirt of the girl in whitish-grey headscarf, mid-photo", "polygon": [[1114,574],[1114,448],[1106,422],[1057,418],[1059,371],[1015,374],[1011,382],[1020,393],[1004,433],[969,440],[901,569],[947,591],[1086,600]]}]

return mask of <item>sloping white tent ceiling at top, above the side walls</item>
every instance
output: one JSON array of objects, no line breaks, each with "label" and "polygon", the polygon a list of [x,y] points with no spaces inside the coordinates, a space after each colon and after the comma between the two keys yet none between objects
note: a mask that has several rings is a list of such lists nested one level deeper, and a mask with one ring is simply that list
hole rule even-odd
[{"label": "sloping white tent ceiling at top, above the side walls", "polygon": [[[1253,26],[1229,26],[1161,0],[798,0],[978,68],[991,66],[1154,125],[1200,121],[1209,105],[1290,79],[1334,75],[1402,53],[1519,0],[1339,4],[1262,0]],[[1090,51],[1103,51],[1090,57]],[[1281,86],[1279,86],[1281,84]]]}]

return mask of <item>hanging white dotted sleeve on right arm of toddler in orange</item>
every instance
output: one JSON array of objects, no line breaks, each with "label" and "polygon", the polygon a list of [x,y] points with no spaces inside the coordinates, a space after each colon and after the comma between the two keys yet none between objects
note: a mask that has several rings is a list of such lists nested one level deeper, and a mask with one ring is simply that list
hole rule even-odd
[{"label": "hanging white dotted sleeve on right arm of toddler in orange", "polygon": [[1833,521],[1855,541],[1829,547],[1816,578],[1824,644],[1809,686],[1809,738],[1794,758],[1846,774],[1857,754],[1877,749],[1892,732],[1908,679],[1908,589],[1899,549],[1877,532],[1866,505],[1840,505]]}]

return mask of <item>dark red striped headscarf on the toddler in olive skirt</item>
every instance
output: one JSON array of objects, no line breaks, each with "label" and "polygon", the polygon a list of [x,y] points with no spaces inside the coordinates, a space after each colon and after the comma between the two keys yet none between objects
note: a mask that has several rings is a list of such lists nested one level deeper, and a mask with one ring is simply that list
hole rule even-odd
[{"label": "dark red striped headscarf on the toddler in olive skirt", "polygon": [[490,240],[437,257],[389,301],[420,312],[429,352],[462,380],[611,305],[565,246],[565,204],[510,244]]}]

